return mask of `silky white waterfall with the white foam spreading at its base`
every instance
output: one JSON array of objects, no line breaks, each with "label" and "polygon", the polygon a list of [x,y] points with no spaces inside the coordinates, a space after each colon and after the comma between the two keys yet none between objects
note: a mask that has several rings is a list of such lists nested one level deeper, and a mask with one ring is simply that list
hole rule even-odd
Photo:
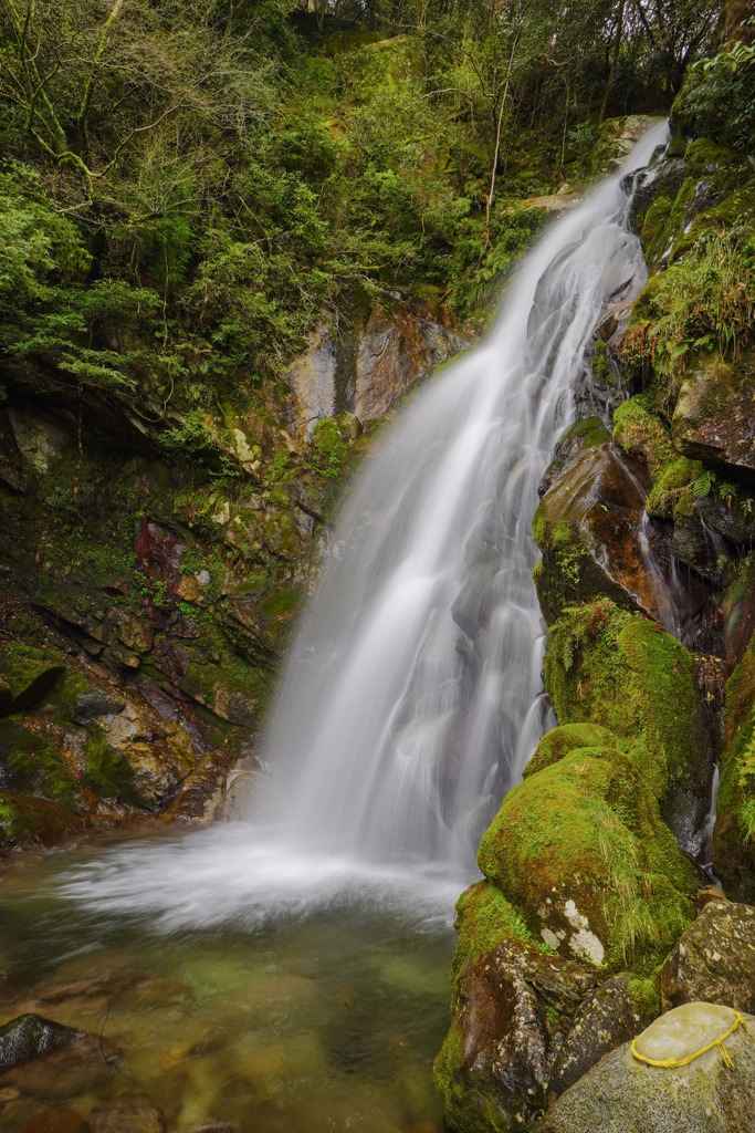
[{"label": "silky white waterfall with the white foam spreading at its base", "polygon": [[645,283],[627,174],[666,133],[547,231],[488,339],[362,469],[282,681],[251,829],[111,851],[63,896],[169,929],[366,889],[447,917],[546,724],[537,488],[606,304]]}]

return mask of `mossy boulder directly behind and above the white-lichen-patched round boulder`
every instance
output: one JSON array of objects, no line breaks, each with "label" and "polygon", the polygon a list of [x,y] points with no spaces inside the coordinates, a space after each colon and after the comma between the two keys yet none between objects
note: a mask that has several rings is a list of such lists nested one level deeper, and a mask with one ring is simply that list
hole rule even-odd
[{"label": "mossy boulder directly behind and above the white-lichen-patched round boulder", "polygon": [[552,628],[546,685],[559,723],[623,739],[675,836],[696,853],[713,750],[687,649],[657,622],[597,599]]}]

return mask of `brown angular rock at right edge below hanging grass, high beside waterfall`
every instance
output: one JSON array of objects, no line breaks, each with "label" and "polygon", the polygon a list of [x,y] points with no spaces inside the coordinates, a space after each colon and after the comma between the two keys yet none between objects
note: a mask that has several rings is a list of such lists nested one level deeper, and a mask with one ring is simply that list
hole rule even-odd
[{"label": "brown angular rock at right edge below hanging grass, high beside waterfall", "polygon": [[671,433],[678,452],[755,480],[755,355],[736,361],[718,352],[696,356],[674,411]]}]

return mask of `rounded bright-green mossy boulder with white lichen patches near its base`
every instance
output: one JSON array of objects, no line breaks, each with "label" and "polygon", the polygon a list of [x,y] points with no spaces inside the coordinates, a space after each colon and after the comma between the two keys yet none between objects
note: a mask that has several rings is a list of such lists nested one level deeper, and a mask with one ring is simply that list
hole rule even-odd
[{"label": "rounded bright-green mossy boulder with white lichen patches near its base", "polygon": [[576,748],[511,791],[482,838],[482,872],[563,956],[650,970],[694,917],[694,876],[645,766]]}]

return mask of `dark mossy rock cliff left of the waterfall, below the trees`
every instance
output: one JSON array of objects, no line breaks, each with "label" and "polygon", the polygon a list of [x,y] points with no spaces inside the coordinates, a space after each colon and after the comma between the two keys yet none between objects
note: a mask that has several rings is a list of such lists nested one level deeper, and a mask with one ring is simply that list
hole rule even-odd
[{"label": "dark mossy rock cliff left of the waterfall, below the trees", "polygon": [[[352,315],[328,373],[353,393],[317,404],[301,378],[147,420],[126,397],[3,370],[0,847],[206,818],[254,760],[362,423],[467,341],[410,297]],[[316,368],[317,348],[292,374]]]}]

